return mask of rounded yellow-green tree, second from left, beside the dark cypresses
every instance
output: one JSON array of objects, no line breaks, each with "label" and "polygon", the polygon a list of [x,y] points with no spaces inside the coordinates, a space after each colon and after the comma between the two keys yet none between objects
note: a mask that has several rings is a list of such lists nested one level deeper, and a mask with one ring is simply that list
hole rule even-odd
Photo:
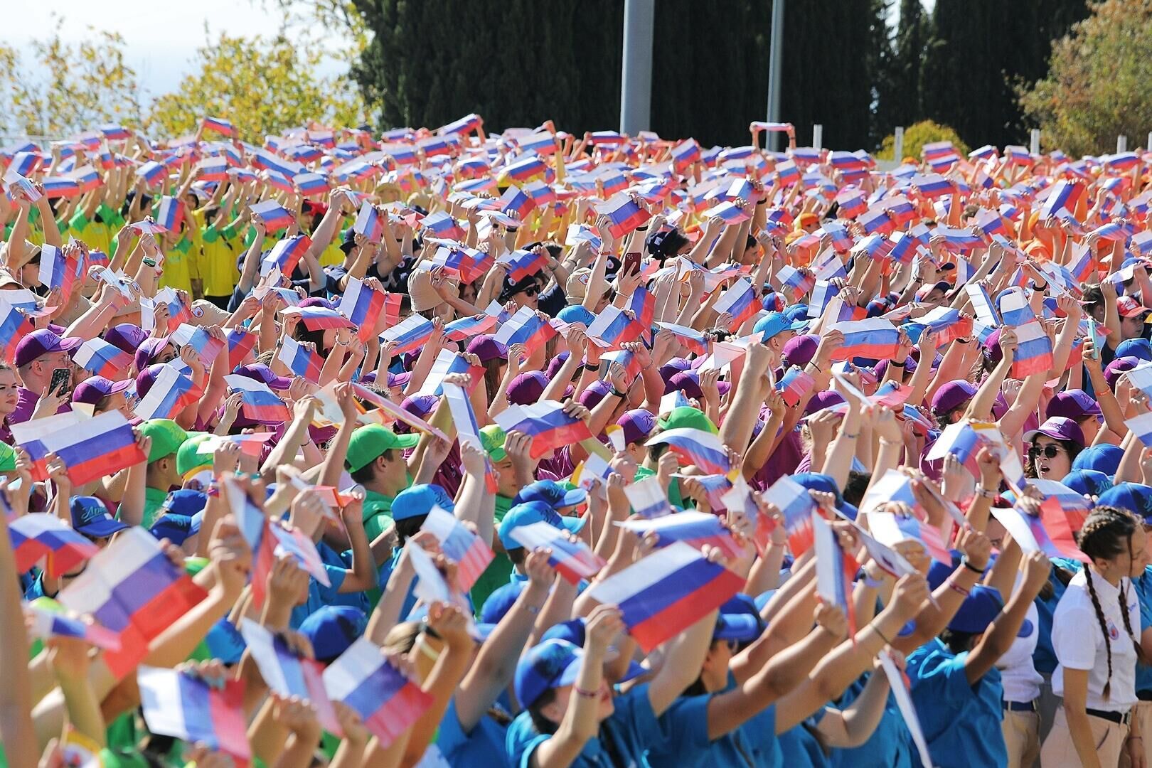
[{"label": "rounded yellow-green tree, second from left, beside the dark cypresses", "polygon": [[363,106],[349,82],[320,77],[324,51],[308,38],[290,40],[220,35],[197,52],[196,71],[175,93],[152,105],[149,126],[162,136],[196,129],[205,115],[227,117],[237,136],[259,142],[266,134],[318,121],[356,126]]}]

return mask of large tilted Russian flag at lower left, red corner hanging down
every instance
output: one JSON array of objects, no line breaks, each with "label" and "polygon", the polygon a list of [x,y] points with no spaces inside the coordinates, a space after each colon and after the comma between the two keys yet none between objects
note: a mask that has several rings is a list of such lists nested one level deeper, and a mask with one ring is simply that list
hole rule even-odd
[{"label": "large tilted Russian flag at lower left, red corner hanging down", "polygon": [[131,527],[92,557],[58,600],[120,637],[120,651],[104,654],[120,679],[144,659],[152,639],[205,596],[152,534]]}]

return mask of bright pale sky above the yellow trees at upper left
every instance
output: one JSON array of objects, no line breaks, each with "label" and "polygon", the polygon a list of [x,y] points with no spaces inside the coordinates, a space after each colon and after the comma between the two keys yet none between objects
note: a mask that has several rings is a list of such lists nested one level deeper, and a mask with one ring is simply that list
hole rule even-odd
[{"label": "bright pale sky above the yellow trees at upper left", "polygon": [[[63,20],[61,37],[69,43],[83,39],[89,26],[120,32],[129,66],[136,70],[147,96],[175,90],[191,69],[196,50],[204,44],[205,23],[211,37],[229,35],[273,35],[283,14],[274,0],[191,0],[190,2],[147,0],[5,0],[18,3],[21,12],[0,24],[0,41],[21,47],[30,37],[48,37],[53,14]],[[333,43],[339,44],[338,38]],[[25,67],[32,62],[25,59]],[[325,71],[328,69],[328,71]],[[334,74],[339,64],[321,67],[320,74]]]}]

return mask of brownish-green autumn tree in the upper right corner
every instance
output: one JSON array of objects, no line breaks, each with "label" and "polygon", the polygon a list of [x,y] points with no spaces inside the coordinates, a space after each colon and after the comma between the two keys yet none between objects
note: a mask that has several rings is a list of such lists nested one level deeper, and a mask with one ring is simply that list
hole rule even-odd
[{"label": "brownish-green autumn tree in the upper right corner", "polygon": [[1073,155],[1111,151],[1144,136],[1152,111],[1152,2],[1105,0],[1052,46],[1052,68],[1021,89],[1046,146]]}]

